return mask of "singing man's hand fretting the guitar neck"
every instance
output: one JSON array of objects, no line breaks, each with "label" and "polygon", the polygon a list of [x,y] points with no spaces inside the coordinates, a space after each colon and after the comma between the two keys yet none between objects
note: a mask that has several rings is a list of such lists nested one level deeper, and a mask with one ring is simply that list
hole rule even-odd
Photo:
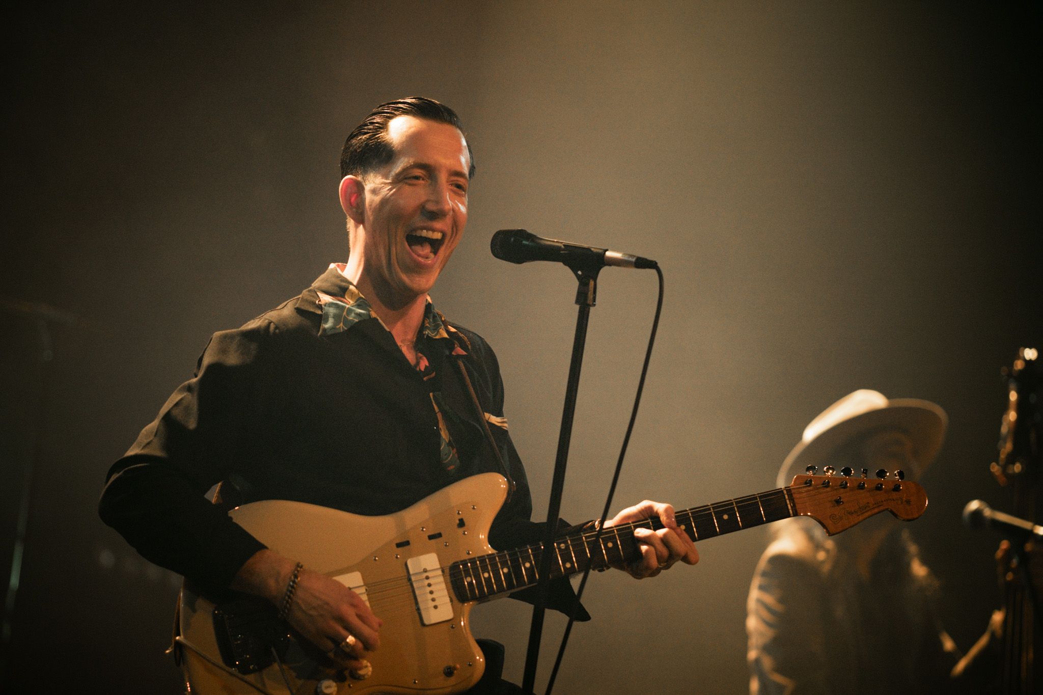
[{"label": "singing man's hand fretting the guitar neck", "polygon": [[645,500],[634,506],[628,506],[606,521],[605,527],[657,517],[665,528],[655,531],[651,528],[635,528],[634,540],[637,541],[641,559],[618,568],[637,579],[654,577],[659,572],[669,570],[679,560],[685,565],[695,565],[699,562],[696,544],[687,533],[678,528],[677,519],[674,518],[674,507],[664,502]]}]

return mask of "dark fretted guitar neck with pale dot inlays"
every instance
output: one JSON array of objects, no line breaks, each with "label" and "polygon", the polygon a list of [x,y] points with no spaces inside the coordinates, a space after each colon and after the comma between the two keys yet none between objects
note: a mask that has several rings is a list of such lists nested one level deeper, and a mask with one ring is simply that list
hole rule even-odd
[{"label": "dark fretted guitar neck with pale dot inlays", "polygon": [[[744,528],[797,516],[797,505],[789,488],[714,502],[675,514],[678,526],[693,541],[704,541]],[[620,524],[599,535],[589,530],[555,541],[551,557],[551,577],[568,576],[610,564],[633,561],[639,556],[634,529],[658,530],[658,518]],[[514,550],[461,560],[450,567],[450,581],[461,601],[476,601],[517,591],[536,584],[536,568],[543,544],[536,543]]]}]

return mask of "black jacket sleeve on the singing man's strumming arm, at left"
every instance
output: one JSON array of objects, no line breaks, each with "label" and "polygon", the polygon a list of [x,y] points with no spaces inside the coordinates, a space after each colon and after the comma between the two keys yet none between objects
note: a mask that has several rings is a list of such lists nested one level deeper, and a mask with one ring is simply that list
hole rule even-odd
[{"label": "black jacket sleeve on the singing man's strumming arm, at left", "polygon": [[215,333],[195,377],[110,469],[99,514],[147,560],[203,590],[226,589],[265,546],[205,494],[225,479],[272,388],[268,321]]}]

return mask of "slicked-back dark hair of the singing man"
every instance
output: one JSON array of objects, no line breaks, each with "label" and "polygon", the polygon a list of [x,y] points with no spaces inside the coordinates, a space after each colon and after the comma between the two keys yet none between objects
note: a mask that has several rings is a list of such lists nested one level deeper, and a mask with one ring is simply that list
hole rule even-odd
[{"label": "slicked-back dark hair of the singing man", "polygon": [[[370,111],[344,141],[344,149],[340,151],[341,178],[348,175],[363,176],[394,158],[394,148],[388,140],[388,123],[399,116],[446,123],[463,134],[460,117],[456,111],[434,99],[407,97],[389,101]],[[470,143],[467,143],[467,158],[470,159],[467,178],[474,178],[475,153],[470,151]]]}]

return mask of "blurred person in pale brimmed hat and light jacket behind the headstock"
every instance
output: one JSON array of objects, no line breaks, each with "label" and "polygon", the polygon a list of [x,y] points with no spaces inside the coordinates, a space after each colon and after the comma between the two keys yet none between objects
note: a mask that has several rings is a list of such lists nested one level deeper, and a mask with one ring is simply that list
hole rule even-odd
[{"label": "blurred person in pale brimmed hat and light jacket behind the headstock", "polygon": [[[804,429],[778,475],[850,466],[916,480],[945,438],[945,412],[929,401],[855,391]],[[901,522],[879,514],[836,537],[814,520],[773,526],[747,602],[750,692],[981,692],[996,672],[1000,618],[961,660],[939,624],[930,570]]]}]

